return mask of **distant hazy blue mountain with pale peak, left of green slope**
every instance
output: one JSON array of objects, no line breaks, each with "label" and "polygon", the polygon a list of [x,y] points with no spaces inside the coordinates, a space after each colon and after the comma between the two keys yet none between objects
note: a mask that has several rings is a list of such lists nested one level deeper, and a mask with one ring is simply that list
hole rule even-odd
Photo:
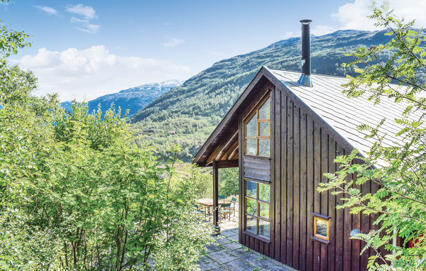
[{"label": "distant hazy blue mountain with pale peak, left of green slope", "polygon": [[[131,116],[143,109],[143,107],[151,103],[151,101],[158,96],[165,94],[174,87],[180,86],[180,84],[182,84],[182,81],[168,80],[160,83],[143,84],[139,87],[121,90],[118,93],[100,96],[88,102],[89,112],[96,110],[99,104],[101,105],[102,111],[105,111],[114,103],[116,108],[119,106],[121,107],[121,112],[123,113],[126,109],[129,109],[128,116]],[[71,111],[72,101],[64,101],[60,105],[68,111]]]}]

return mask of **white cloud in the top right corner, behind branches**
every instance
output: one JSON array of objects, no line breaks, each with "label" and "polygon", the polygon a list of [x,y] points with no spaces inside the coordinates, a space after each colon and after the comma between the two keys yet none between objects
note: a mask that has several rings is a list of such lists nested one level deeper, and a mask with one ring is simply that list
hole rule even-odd
[{"label": "white cloud in the top right corner, behind branches", "polygon": [[[418,0],[389,0],[389,6],[395,11],[396,16],[404,17],[407,20],[416,20],[416,27],[426,26],[426,1]],[[382,4],[378,1],[378,5]],[[341,23],[340,29],[362,29],[377,30],[375,21],[368,18],[371,15],[370,0],[355,0],[339,7],[337,13],[332,14],[332,18]]]}]

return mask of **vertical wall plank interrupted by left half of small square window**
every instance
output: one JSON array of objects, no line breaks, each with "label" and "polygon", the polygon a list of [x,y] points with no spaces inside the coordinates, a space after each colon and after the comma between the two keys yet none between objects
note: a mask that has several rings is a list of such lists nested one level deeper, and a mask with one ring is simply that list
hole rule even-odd
[{"label": "vertical wall plank interrupted by left half of small square window", "polygon": [[[314,196],[314,212],[321,213],[321,198],[317,192],[317,187],[321,180],[321,131],[320,127],[314,123],[314,186],[312,194]],[[312,219],[312,216],[311,216]],[[313,219],[312,219],[313,223]],[[320,243],[314,242],[314,259],[312,270],[320,270]]]}]

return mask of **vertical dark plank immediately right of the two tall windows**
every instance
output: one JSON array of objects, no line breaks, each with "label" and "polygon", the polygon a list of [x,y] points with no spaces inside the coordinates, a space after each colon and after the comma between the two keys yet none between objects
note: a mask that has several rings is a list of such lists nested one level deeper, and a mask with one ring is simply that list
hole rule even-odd
[{"label": "vertical dark plank immediately right of the two tall windows", "polygon": [[274,255],[275,260],[281,260],[280,245],[281,245],[281,92],[275,88],[275,102],[274,102],[274,111],[275,111],[275,123],[274,123],[274,164],[275,164],[275,175],[274,180],[274,189],[275,193],[275,231],[274,231]]}]

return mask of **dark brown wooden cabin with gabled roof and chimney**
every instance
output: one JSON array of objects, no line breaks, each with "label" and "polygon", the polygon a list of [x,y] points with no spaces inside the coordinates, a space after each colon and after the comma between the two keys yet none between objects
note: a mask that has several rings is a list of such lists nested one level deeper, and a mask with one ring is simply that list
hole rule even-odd
[{"label": "dark brown wooden cabin with gabled roof and chimney", "polygon": [[[368,233],[373,219],[337,210],[342,199],[316,188],[327,182],[324,173],[339,170],[338,155],[356,148],[366,156],[373,142],[357,126],[397,118],[404,106],[349,99],[345,82],[310,74],[310,67],[302,76],[261,67],[194,158],[213,167],[214,206],[218,169],[239,167],[239,243],[295,270],[366,270],[373,253],[360,255],[365,244],[350,239],[353,230]],[[399,129],[383,128],[391,135]],[[378,187],[367,182],[360,189]]]}]

